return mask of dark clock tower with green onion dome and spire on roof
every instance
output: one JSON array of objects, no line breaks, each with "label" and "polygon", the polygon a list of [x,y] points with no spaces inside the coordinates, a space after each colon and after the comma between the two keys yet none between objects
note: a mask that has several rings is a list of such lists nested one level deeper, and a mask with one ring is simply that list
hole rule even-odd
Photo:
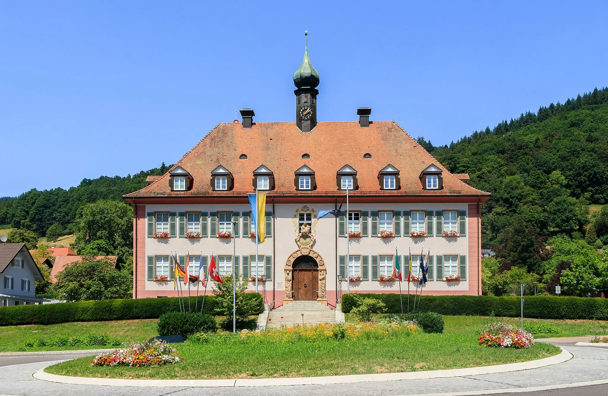
[{"label": "dark clock tower with green onion dome and spire on roof", "polygon": [[317,126],[317,95],[319,72],[314,69],[308,58],[308,30],[304,32],[304,59],[294,73],[295,123],[302,132],[310,132]]}]

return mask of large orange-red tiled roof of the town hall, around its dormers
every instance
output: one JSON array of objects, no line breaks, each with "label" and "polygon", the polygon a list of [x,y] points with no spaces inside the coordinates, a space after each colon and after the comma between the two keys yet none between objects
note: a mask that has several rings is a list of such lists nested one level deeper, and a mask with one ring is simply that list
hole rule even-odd
[{"label": "large orange-red tiled roof of the town hall, around its dormers", "polygon": [[[302,154],[310,159],[302,159]],[[371,159],[364,159],[364,154]],[[239,156],[246,154],[246,160]],[[378,172],[388,164],[399,169],[401,189],[383,191]],[[407,134],[395,121],[374,121],[361,128],[356,121],[319,122],[311,132],[300,132],[295,123],[257,123],[243,129],[240,123],[221,123],[187,152],[176,166],[182,166],[193,177],[189,191],[171,191],[169,172],[155,182],[125,197],[235,196],[252,192],[253,172],[265,165],[274,174],[275,189],[269,195],[336,194],[336,172],[348,164],[357,171],[359,189],[353,195],[445,194],[485,195],[450,174],[432,155]],[[443,170],[443,189],[424,190],[420,174],[429,165]],[[213,191],[211,172],[218,165],[234,177],[230,191]],[[297,191],[294,171],[307,165],[315,172],[314,193]]]}]

